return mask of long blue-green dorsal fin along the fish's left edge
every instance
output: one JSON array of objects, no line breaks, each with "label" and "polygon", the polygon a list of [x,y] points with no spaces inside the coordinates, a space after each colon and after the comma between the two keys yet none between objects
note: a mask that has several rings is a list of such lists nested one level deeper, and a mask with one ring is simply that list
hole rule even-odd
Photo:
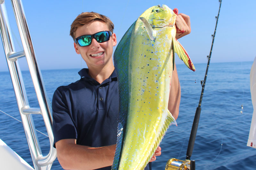
[{"label": "long blue-green dorsal fin along the fish's left edge", "polygon": [[125,127],[129,106],[129,51],[130,42],[132,38],[132,31],[134,30],[136,21],[126,31],[120,42],[118,43],[114,52],[114,66],[118,78],[118,96],[119,96],[119,113],[118,113],[118,129],[116,141],[116,153],[112,165],[112,170],[117,170],[119,165],[119,157],[122,152],[122,145],[125,136]]}]

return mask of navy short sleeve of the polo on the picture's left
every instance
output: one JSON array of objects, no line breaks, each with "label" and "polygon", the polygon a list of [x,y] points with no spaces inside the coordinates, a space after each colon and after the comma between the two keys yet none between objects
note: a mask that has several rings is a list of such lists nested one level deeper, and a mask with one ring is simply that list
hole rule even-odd
[{"label": "navy short sleeve of the polo on the picture's left", "polygon": [[77,131],[71,114],[71,101],[68,92],[58,87],[52,97],[52,131],[54,136],[53,147],[61,139],[76,139]]}]

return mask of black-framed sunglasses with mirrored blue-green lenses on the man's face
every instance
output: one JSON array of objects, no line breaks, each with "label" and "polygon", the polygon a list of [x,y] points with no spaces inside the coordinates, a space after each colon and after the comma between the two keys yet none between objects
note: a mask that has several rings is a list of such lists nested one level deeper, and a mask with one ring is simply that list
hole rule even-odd
[{"label": "black-framed sunglasses with mirrored blue-green lenses on the man's face", "polygon": [[110,31],[100,31],[92,35],[82,35],[75,39],[75,43],[81,47],[91,45],[92,39],[94,38],[97,42],[106,42],[110,39],[112,33]]}]

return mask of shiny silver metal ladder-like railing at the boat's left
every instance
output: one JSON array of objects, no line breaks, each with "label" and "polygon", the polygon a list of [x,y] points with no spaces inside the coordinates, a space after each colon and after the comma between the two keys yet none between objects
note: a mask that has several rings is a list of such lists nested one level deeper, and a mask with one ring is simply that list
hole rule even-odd
[{"label": "shiny silver metal ladder-like railing at the boat's left", "polygon": [[[23,5],[20,0],[11,0],[11,2],[24,50],[20,52],[15,51],[4,0],[0,0],[0,30],[4,52],[34,167],[35,169],[51,169],[52,162],[57,156],[56,150],[53,148],[52,109],[46,95],[41,71],[37,64]],[[21,57],[26,57],[27,59],[40,108],[31,108],[29,106],[18,63],[18,59]],[[50,141],[50,151],[46,156],[42,155],[31,114],[41,114],[43,116]]]}]

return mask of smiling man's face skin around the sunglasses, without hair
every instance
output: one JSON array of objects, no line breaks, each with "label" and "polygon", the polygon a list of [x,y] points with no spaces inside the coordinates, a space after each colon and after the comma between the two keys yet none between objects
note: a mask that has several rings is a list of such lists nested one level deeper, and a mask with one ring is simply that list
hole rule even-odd
[{"label": "smiling man's face skin around the sunglasses, without hair", "polygon": [[[82,35],[90,35],[100,31],[109,31],[108,26],[101,21],[93,21],[88,25],[77,28],[75,32],[76,38]],[[94,38],[89,46],[80,47],[74,43],[77,54],[81,54],[90,69],[102,69],[109,65],[113,65],[112,53],[113,46],[116,45],[116,34],[113,33],[109,41],[99,43]]]}]

